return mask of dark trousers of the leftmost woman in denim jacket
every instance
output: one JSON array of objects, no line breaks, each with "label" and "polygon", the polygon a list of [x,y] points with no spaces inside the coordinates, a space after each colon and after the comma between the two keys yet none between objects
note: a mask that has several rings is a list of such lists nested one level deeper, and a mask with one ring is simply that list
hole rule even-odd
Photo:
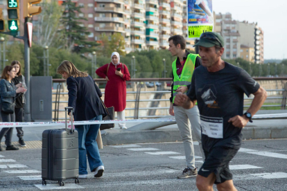
[{"label": "dark trousers of the leftmost woman in denim jacket", "polygon": [[[0,110],[1,110],[1,107],[0,107]],[[1,117],[2,117],[3,122],[15,122],[15,113],[8,114],[8,113],[3,113],[1,111]],[[12,134],[13,134],[13,127],[2,128],[0,131],[0,143],[1,143],[3,136],[6,135],[5,143],[7,146],[11,146],[12,145],[12,143],[11,143]]]}]

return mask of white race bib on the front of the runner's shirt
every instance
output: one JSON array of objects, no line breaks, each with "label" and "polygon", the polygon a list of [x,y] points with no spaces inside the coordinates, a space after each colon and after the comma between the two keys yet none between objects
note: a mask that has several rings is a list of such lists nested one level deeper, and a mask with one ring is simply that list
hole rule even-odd
[{"label": "white race bib on the front of the runner's shirt", "polygon": [[223,118],[200,116],[202,134],[210,138],[223,138]]}]

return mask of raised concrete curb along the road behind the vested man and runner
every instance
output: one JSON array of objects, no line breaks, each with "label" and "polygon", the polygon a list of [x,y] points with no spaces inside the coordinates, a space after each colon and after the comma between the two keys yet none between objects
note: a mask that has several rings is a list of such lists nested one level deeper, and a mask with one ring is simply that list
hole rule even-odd
[{"label": "raised concrete curb along the road behind the vested man and runner", "polygon": [[[245,127],[244,139],[287,138],[287,127]],[[178,129],[127,131],[107,130],[102,133],[103,145],[122,145],[134,143],[182,142]],[[193,137],[193,140],[196,140]]]}]

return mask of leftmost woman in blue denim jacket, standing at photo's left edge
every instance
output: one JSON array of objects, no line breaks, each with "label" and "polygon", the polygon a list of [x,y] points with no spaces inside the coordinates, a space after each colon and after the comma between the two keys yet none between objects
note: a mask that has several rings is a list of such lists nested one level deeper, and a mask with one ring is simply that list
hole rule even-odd
[{"label": "leftmost woman in blue denim jacket, standing at photo's left edge", "polygon": [[[6,113],[2,111],[2,102],[9,102],[12,104],[15,101],[15,97],[17,93],[24,93],[26,89],[24,87],[20,87],[21,84],[13,84],[12,79],[15,78],[15,69],[12,66],[6,66],[3,69],[3,73],[1,75],[0,81],[0,95],[1,95],[1,104],[0,111],[3,122],[15,122],[15,112],[14,113]],[[4,127],[0,131],[0,143],[3,136],[6,136],[6,150],[19,150],[18,147],[14,147],[11,143],[13,134],[13,127]],[[0,151],[2,151],[0,146]]]}]

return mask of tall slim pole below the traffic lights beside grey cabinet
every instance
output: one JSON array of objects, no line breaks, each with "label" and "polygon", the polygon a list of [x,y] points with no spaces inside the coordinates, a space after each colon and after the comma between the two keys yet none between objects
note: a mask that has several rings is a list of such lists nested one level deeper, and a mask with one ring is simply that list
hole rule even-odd
[{"label": "tall slim pole below the traffic lights beside grey cabinet", "polygon": [[25,80],[26,80],[26,86],[27,91],[25,93],[26,98],[26,104],[25,104],[25,116],[24,121],[29,122],[31,121],[31,103],[30,103],[30,47],[28,44],[28,17],[25,17],[25,23],[24,23],[24,64],[25,64]]}]

